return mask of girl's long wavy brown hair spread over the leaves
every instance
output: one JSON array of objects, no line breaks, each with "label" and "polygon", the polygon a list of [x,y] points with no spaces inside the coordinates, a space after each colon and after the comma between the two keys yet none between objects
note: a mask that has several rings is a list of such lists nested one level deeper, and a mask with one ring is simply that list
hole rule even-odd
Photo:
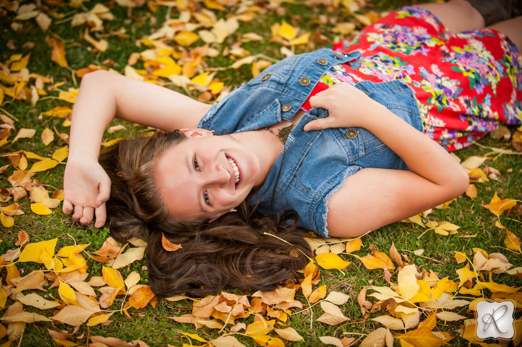
[{"label": "girl's long wavy brown hair spread over the leaves", "polygon": [[[111,178],[106,204],[111,235],[124,242],[148,241],[149,285],[160,296],[205,296],[226,286],[271,291],[313,258],[294,212],[258,216],[245,201],[220,219],[182,222],[162,204],[155,162],[185,139],[179,131],[118,142],[102,152],[100,164]],[[169,252],[162,234],[181,248]]]}]

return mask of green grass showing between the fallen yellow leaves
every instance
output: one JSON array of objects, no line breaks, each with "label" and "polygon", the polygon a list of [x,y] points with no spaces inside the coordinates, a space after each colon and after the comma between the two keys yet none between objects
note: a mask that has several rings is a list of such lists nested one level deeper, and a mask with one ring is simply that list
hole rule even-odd
[{"label": "green grass showing between the fallen yellow leaves", "polygon": [[[28,3],[28,2],[25,2]],[[375,0],[370,2],[369,8],[374,7],[377,10],[387,10],[390,8],[398,7],[403,4],[410,4],[411,1],[405,0]],[[72,69],[76,70],[79,68],[87,67],[89,64],[103,65],[106,59],[111,59],[113,62],[112,68],[122,72],[126,65],[128,56],[133,52],[140,52],[145,47],[138,48],[135,42],[143,38],[145,35],[150,34],[153,30],[161,27],[161,23],[167,15],[167,8],[160,7],[157,13],[150,13],[146,6],[132,10],[132,15],[129,18],[127,16],[127,9],[121,8],[120,6],[114,5],[114,3],[106,3],[111,7],[112,13],[115,15],[115,20],[104,21],[105,33],[116,31],[120,28],[126,29],[128,38],[118,38],[115,35],[108,37],[109,49],[104,53],[96,53],[90,45],[84,41],[79,40],[80,33],[85,31],[85,27],[70,27],[70,18],[78,10],[69,7],[53,7],[50,8],[57,13],[66,14],[65,19],[61,20],[62,23],[58,24],[55,22],[50,28],[50,31],[43,33],[36,25],[34,20],[22,22],[24,32],[16,33],[10,30],[10,22],[14,18],[13,13],[7,13],[5,16],[0,17],[0,26],[2,28],[2,35],[0,37],[0,62],[5,62],[9,59],[11,54],[27,54],[31,53],[29,65],[27,66],[31,73],[38,73],[42,75],[52,76],[54,82],[64,81],[65,84],[60,87],[61,89],[67,89],[69,87],[77,87],[79,79],[77,78],[77,84],[74,84],[72,74],[65,68],[58,67],[54,62],[51,61],[51,48],[45,43],[46,37],[52,37],[57,35],[61,37],[65,42],[65,48],[67,51],[67,59]],[[262,7],[267,7],[267,2],[257,2]],[[92,8],[94,2],[86,2],[83,6],[87,9]],[[203,4],[201,4],[203,6]],[[347,13],[343,7],[339,8],[327,8],[324,6],[318,6],[311,8],[303,5],[302,2],[296,2],[294,4],[284,3],[281,5],[282,11],[278,12],[275,10],[267,10],[266,14],[259,14],[257,18],[252,22],[241,23],[240,29],[237,33],[231,35],[223,45],[215,45],[220,51],[222,51],[224,45],[231,45],[236,42],[239,38],[240,33],[256,32],[266,40],[263,42],[250,42],[242,44],[242,47],[251,54],[263,53],[268,56],[282,58],[279,51],[280,45],[269,42],[270,38],[270,26],[273,23],[281,22],[286,20],[291,25],[299,27],[302,31],[313,31],[322,35],[328,40],[332,40],[335,37],[335,33],[331,30],[334,27],[335,22],[343,22],[353,20],[353,16]],[[367,10],[365,8],[363,10]],[[215,11],[218,17],[226,18],[227,14],[223,11]],[[177,18],[179,13],[175,8],[172,9],[171,17]],[[326,21],[321,21],[323,19]],[[350,38],[350,35],[349,35]],[[6,44],[11,41],[16,46],[15,50],[6,49]],[[33,42],[34,47],[32,49],[22,48],[23,43]],[[196,42],[195,45],[202,44],[201,41]],[[296,53],[302,53],[310,51],[312,49],[319,49],[327,46],[328,41],[311,41],[310,44],[299,46],[296,48]],[[208,58],[207,64],[211,67],[229,66],[233,61],[229,57],[217,56],[215,58]],[[140,67],[139,64],[136,67]],[[222,79],[227,86],[239,86],[241,82],[248,80],[252,77],[250,66],[245,65],[241,68],[227,69],[219,71],[216,75],[217,78]],[[183,91],[183,90],[180,90]],[[197,97],[196,92],[191,92],[192,97]],[[50,91],[49,95],[56,96],[56,91]],[[19,128],[34,128],[37,130],[37,135],[32,139],[20,139],[15,143],[8,143],[7,145],[0,148],[0,152],[13,152],[19,150],[26,150],[38,153],[45,157],[50,157],[54,150],[65,146],[65,143],[55,138],[50,146],[44,146],[39,136],[45,127],[51,129],[56,128],[62,133],[68,133],[68,128],[62,126],[62,119],[52,117],[39,117],[41,112],[48,111],[55,106],[70,106],[68,103],[56,100],[54,98],[42,97],[35,106],[30,103],[20,100],[11,101],[11,98],[5,97],[2,105],[10,114],[17,117],[19,120],[15,123],[17,130]],[[106,134],[104,139],[112,139],[121,136],[136,136],[140,130],[144,130],[143,127],[134,127],[130,124],[127,125],[127,133],[120,131],[116,134]],[[514,131],[514,129],[512,129]],[[14,137],[11,134],[10,139]],[[494,140],[489,137],[480,141],[482,145],[492,147],[509,147],[507,142],[500,140]],[[465,159],[470,155],[483,155],[488,150],[482,149],[478,146],[472,146],[468,149],[458,151],[457,154],[461,159]],[[371,253],[370,244],[374,244],[378,250],[388,254],[389,248],[394,242],[399,253],[406,254],[411,259],[411,264],[416,264],[420,269],[433,270],[440,273],[439,277],[444,278],[449,276],[454,280],[458,280],[458,276],[455,272],[456,269],[462,267],[462,264],[457,264],[454,258],[454,252],[460,251],[469,255],[469,252],[474,247],[480,247],[486,250],[488,253],[499,252],[508,257],[509,261],[515,267],[522,266],[522,258],[519,254],[516,254],[510,250],[505,249],[504,245],[504,232],[497,229],[494,226],[496,218],[487,209],[481,207],[483,204],[488,204],[494,192],[497,192],[501,198],[513,198],[520,199],[520,192],[522,191],[522,158],[520,155],[498,155],[492,156],[491,161],[487,161],[487,164],[500,170],[502,175],[499,177],[499,181],[491,181],[488,183],[476,184],[479,189],[478,197],[475,200],[471,200],[466,196],[459,197],[453,202],[449,208],[444,210],[435,209],[430,214],[428,219],[437,221],[448,221],[459,225],[461,228],[458,234],[451,236],[437,235],[430,231],[425,233],[422,237],[419,237],[425,230],[416,224],[407,223],[395,223],[381,228],[370,235],[363,237],[363,248],[355,252],[355,254],[363,257],[367,253]],[[30,164],[33,161],[30,162]],[[0,157],[0,166],[8,163],[7,158]],[[508,173],[508,169],[512,169],[511,173]],[[50,192],[54,192],[55,189],[62,188],[62,176],[63,176],[64,165],[60,164],[52,170],[37,173],[34,177],[39,182],[46,185]],[[0,187],[9,188],[10,184],[7,181],[7,177],[13,172],[12,166],[9,167],[3,174],[0,175]],[[101,229],[96,230],[87,226],[82,226],[72,221],[69,216],[65,216],[61,211],[60,207],[54,210],[54,213],[50,216],[37,216],[30,211],[30,201],[28,197],[25,197],[18,201],[21,205],[21,209],[25,211],[23,216],[15,216],[15,225],[9,229],[0,227],[0,254],[5,253],[8,249],[14,249],[14,243],[17,241],[17,234],[19,231],[26,231],[29,234],[31,242],[39,242],[49,240],[51,238],[58,238],[56,249],[60,247],[71,245],[74,243],[73,239],[78,243],[91,243],[87,250],[93,251],[99,249],[105,239],[108,237],[108,230]],[[11,202],[2,203],[2,206],[7,206]],[[520,204],[519,204],[520,205]],[[506,213],[502,215],[500,221],[509,230],[520,236],[522,215],[520,213],[512,213],[509,217]],[[470,236],[473,237],[461,237]],[[424,249],[424,253],[420,256],[414,255],[412,252],[419,248]],[[342,337],[343,332],[354,332],[354,333],[369,333],[376,328],[380,327],[376,322],[371,321],[378,315],[385,314],[384,310],[376,314],[370,315],[370,319],[363,321],[361,310],[357,303],[357,295],[365,285],[370,283],[373,285],[387,285],[384,279],[384,273],[382,270],[367,270],[361,264],[361,262],[352,257],[345,255],[343,256],[346,260],[352,261],[352,264],[348,266],[343,273],[337,270],[323,270],[322,279],[320,284],[326,284],[329,291],[341,291],[352,296],[351,300],[343,305],[341,309],[343,313],[350,318],[347,323],[353,323],[346,326],[335,326],[331,327],[325,324],[321,324],[315,321],[315,318],[319,317],[323,312],[319,305],[315,305],[311,310],[305,310],[300,314],[293,315],[289,318],[288,323],[291,327],[296,329],[301,336],[304,337],[305,341],[301,342],[288,342],[288,346],[309,346],[309,345],[320,345],[319,337],[321,336],[337,336]],[[471,256],[472,257],[472,256]],[[100,276],[102,264],[89,260],[89,274],[90,276]],[[32,269],[40,269],[41,266],[32,263],[19,263],[17,264],[20,272],[23,274],[30,273]],[[120,269],[123,277],[125,278],[128,273],[137,271],[141,275],[140,284],[147,283],[147,271],[144,269],[146,266],[145,260],[135,262],[127,268]],[[23,276],[22,274],[22,276]],[[0,272],[0,277],[5,278],[5,272]],[[487,277],[484,278],[487,280]],[[522,281],[513,276],[506,274],[500,274],[492,276],[493,281],[497,283],[504,283],[507,285],[522,285]],[[396,281],[396,273],[393,273],[392,281]],[[5,282],[3,282],[4,284]],[[49,283],[50,285],[51,283]],[[231,292],[239,293],[237,290],[230,289]],[[58,297],[56,289],[49,289],[43,292],[36,291],[40,295],[51,295]],[[25,291],[25,294],[29,294],[29,291]],[[98,293],[99,294],[99,293]],[[251,294],[251,293],[250,293]],[[99,295],[98,295],[99,297]],[[121,300],[121,296],[118,300]],[[299,293],[296,295],[298,300],[305,302],[304,297]],[[13,304],[11,299],[8,299],[7,305]],[[117,302],[121,305],[121,301]],[[111,306],[111,309],[116,309],[117,304]],[[118,306],[119,307],[119,306]],[[106,327],[92,327],[88,329],[85,325],[82,325],[75,336],[84,334],[82,339],[78,342],[81,345],[86,343],[86,337],[100,335],[105,337],[116,337],[125,341],[131,340],[143,340],[150,346],[165,346],[167,343],[173,345],[181,345],[182,342],[188,343],[186,339],[181,338],[181,332],[192,332],[197,333],[199,336],[210,339],[219,336],[217,330],[203,329],[195,331],[193,326],[188,324],[177,324],[168,317],[179,316],[181,314],[189,313],[192,308],[192,303],[188,301],[169,302],[164,299],[159,299],[156,308],[152,308],[150,305],[144,309],[135,310],[130,309],[132,320],[129,320],[122,314],[114,314],[111,319],[113,322]],[[45,316],[52,316],[52,310],[42,313],[41,310],[32,309],[31,307],[25,307],[30,312],[37,312],[44,314]],[[3,314],[2,311],[0,315]],[[313,313],[313,327],[310,328],[311,312]],[[472,313],[468,312],[466,308],[454,310],[463,314],[469,318],[472,318]],[[517,313],[517,317],[520,318],[520,312]],[[421,318],[423,320],[424,318]],[[246,324],[253,321],[251,316],[245,320],[236,320],[236,322],[244,321]],[[449,331],[452,335],[456,335],[458,327],[461,322],[455,322],[452,324],[443,325],[442,322],[437,322],[437,327],[434,330]],[[53,330],[67,330],[73,331],[73,328],[63,324],[29,324],[23,334],[20,345],[22,346],[55,346],[56,344],[51,340],[47,329]],[[275,333],[271,333],[272,336],[276,336]],[[351,336],[347,334],[346,336]],[[358,335],[353,335],[358,337]],[[252,339],[238,336],[238,339],[245,345],[256,345]],[[70,339],[76,341],[75,339]],[[0,343],[6,341],[6,338],[0,340]],[[195,341],[193,341],[194,343]],[[16,345],[18,342],[13,342],[11,345]],[[197,344],[197,343],[196,343]],[[462,341],[458,336],[455,337],[451,342],[451,345],[464,346],[468,345],[467,341]],[[397,344],[398,345],[398,344]]]}]

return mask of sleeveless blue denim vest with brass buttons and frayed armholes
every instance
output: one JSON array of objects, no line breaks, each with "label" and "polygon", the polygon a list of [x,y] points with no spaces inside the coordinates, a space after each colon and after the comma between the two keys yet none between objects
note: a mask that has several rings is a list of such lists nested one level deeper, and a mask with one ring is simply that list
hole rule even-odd
[{"label": "sleeveless blue denim vest with brass buttons and frayed armholes", "polygon": [[[199,127],[231,134],[265,128],[280,123],[281,119],[291,121],[330,67],[359,56],[357,51],[339,54],[321,49],[285,58],[213,105]],[[361,81],[355,87],[422,130],[417,100],[406,84]],[[328,110],[321,108],[303,116],[288,136],[266,181],[250,200],[252,205],[258,204],[257,211],[263,214],[295,210],[301,228],[325,237],[328,237],[328,199],[347,176],[364,167],[408,170],[397,154],[364,128],[303,130],[312,119],[327,116]]]}]

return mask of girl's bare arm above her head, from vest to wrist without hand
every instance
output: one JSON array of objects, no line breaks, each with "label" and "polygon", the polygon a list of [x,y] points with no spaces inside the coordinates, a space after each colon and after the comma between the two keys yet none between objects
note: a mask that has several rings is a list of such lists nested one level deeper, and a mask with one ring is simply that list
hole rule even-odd
[{"label": "girl's bare arm above her head, from vest to wrist without hand", "polygon": [[95,71],[81,81],[73,108],[69,156],[98,158],[103,131],[115,117],[171,131],[197,127],[210,107],[168,88]]}]

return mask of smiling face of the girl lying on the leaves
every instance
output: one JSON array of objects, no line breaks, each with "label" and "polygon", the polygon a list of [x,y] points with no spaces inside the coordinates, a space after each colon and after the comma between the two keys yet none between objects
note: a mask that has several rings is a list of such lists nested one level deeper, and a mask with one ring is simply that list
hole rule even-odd
[{"label": "smiling face of the girl lying on the leaves", "polygon": [[185,131],[188,138],[156,163],[156,184],[171,216],[213,220],[238,206],[262,181],[257,155],[231,136]]}]

